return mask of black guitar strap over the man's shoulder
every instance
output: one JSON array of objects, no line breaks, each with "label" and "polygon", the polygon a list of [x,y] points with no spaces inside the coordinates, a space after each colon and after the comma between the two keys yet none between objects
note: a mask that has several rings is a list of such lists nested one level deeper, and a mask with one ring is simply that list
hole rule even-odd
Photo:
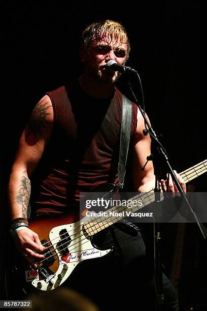
[{"label": "black guitar strap over the man's shoulder", "polygon": [[123,189],[124,177],[126,173],[126,160],[129,149],[129,139],[131,133],[132,121],[132,103],[122,95],[122,117],[121,117],[121,134],[119,149],[118,178],[119,186]]}]

